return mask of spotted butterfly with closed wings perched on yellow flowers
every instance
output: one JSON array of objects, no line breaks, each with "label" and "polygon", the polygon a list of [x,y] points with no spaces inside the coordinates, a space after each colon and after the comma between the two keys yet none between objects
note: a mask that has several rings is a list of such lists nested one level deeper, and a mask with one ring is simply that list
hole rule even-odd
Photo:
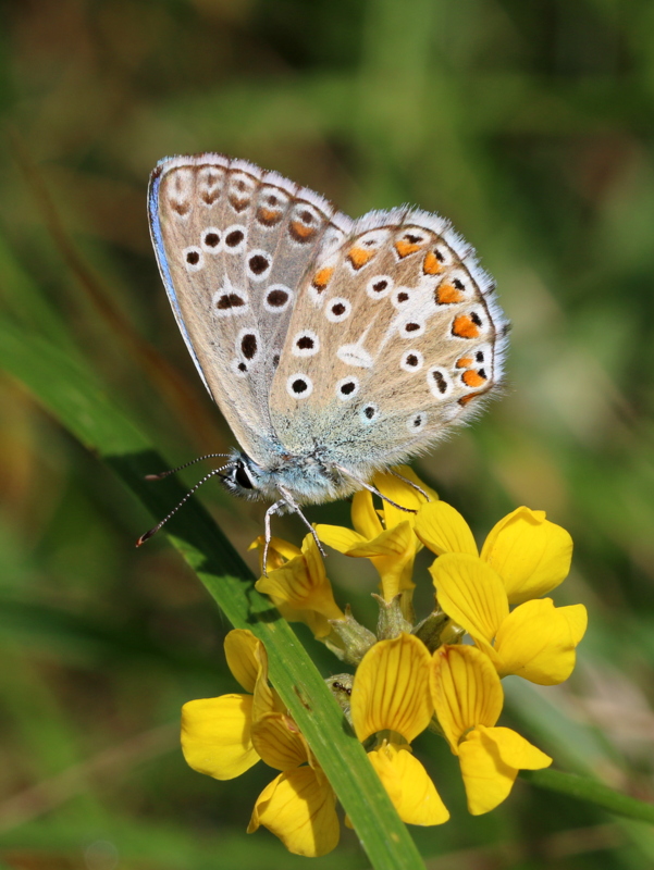
[{"label": "spotted butterfly with closed wings perched on yellow flowers", "polygon": [[242,447],[207,476],[272,501],[267,542],[275,513],[314,534],[301,506],[378,493],[377,471],[501,383],[508,324],[447,220],[406,206],[353,220],[218,153],[160,161],[148,203],[177,325]]}]

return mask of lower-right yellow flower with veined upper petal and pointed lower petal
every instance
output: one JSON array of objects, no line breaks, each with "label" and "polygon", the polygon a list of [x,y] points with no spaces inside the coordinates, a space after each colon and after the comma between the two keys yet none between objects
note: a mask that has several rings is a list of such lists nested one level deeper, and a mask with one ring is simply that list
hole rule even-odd
[{"label": "lower-right yellow flower with veined upper petal and pointed lower petal", "polygon": [[489,812],[508,797],[519,770],[552,763],[525,737],[495,728],[504,694],[490,660],[471,646],[443,646],[434,652],[431,692],[436,716],[459,758],[468,809]]}]

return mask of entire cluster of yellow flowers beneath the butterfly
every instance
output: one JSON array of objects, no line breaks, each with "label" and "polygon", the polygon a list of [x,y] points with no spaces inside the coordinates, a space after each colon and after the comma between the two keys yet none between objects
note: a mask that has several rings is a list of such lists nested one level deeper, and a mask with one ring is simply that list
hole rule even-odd
[{"label": "entire cluster of yellow flowers beneath the butterfly", "polygon": [[[331,685],[405,822],[431,825],[449,818],[410,746],[428,726],[444,735],[459,759],[470,812],[488,812],[508,796],[519,770],[552,763],[496,723],[504,703],[501,678],[517,674],[554,685],[575,667],[585,608],[557,608],[540,597],[567,576],[572,540],[544,511],[518,508],[491,530],[480,552],[462,517],[407,467],[378,474],[373,483],[411,512],[385,500],[377,510],[365,490],[353,499],[354,530],[316,531],[326,545],[369,559],[379,572],[377,635],[336,605],[311,535],[301,549],[273,538],[268,576],[257,588],[286,619],[306,622],[356,666],[354,678],[340,675]],[[414,561],[423,546],[437,557],[429,569],[434,609],[414,625]],[[262,824],[291,852],[324,855],[340,836],[335,796],[268,684],[266,651],[249,632],[235,631],[225,652],[234,676],[252,694],[185,705],[186,760],[217,779],[237,776],[259,758],[281,770],[259,796],[248,831]]]}]

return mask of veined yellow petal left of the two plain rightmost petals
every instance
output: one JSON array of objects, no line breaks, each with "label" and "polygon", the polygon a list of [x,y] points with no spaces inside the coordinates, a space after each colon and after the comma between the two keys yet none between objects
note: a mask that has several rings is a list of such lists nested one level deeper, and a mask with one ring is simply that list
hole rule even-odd
[{"label": "veined yellow petal left of the two plain rightmost petals", "polygon": [[478,556],[458,552],[440,556],[429,570],[447,616],[472,637],[490,644],[508,616],[501,577]]}]

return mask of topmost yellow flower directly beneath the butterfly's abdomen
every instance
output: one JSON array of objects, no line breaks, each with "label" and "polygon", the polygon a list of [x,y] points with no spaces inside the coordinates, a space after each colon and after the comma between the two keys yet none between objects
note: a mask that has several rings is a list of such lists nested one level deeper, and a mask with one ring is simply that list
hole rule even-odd
[{"label": "topmost yellow flower directly beneath the butterfly's abdomen", "polygon": [[[434,501],[439,498],[408,465],[397,465],[395,470],[420,486]],[[411,511],[427,504],[423,495],[391,472],[375,474],[372,483],[386,498]],[[335,550],[370,559],[381,577],[385,601],[414,589],[414,560],[422,548],[414,534],[416,513],[408,513],[387,501],[382,501],[381,510],[377,511],[372,494],[363,489],[353,498],[351,522],[356,531],[340,525],[317,525],[316,531],[319,538]]]}]

